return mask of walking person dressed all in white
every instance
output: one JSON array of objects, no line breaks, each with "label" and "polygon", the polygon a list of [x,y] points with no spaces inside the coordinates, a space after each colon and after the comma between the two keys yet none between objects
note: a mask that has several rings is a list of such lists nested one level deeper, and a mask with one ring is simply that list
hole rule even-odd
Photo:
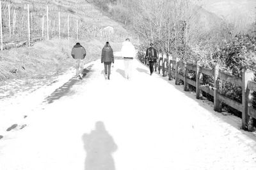
[{"label": "walking person dressed all in white", "polygon": [[132,76],[132,60],[136,57],[136,51],[129,38],[122,44],[121,55],[124,57],[125,78],[128,80]]}]

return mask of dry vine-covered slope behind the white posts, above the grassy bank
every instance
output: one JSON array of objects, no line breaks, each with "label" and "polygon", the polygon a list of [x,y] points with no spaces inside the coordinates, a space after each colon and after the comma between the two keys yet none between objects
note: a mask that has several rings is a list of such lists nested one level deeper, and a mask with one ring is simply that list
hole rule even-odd
[{"label": "dry vine-covered slope behind the white posts, above the grassy bank", "polygon": [[[44,24],[44,38],[47,35],[47,17],[46,6],[49,6],[49,36],[54,38],[58,36],[58,13],[60,12],[60,27],[61,38],[68,36],[68,15],[69,15],[69,31],[70,37],[76,38],[76,27],[78,20],[79,39],[99,39],[112,38],[122,39],[120,35],[127,36],[127,32],[122,27],[108,22],[109,18],[102,20],[102,13],[91,4],[83,0],[63,0],[63,1],[49,1],[49,0],[26,0],[26,1],[3,1],[3,36],[4,43],[10,41],[20,41],[28,39],[28,7],[30,10],[31,22],[31,38],[42,36],[42,24]],[[9,10],[10,4],[10,25],[9,26]],[[108,22],[108,25],[115,27],[115,37],[104,35],[102,33],[102,25],[97,23]],[[104,25],[104,24],[103,24]],[[105,24],[106,26],[106,24]],[[10,29],[11,28],[11,29]],[[11,34],[10,34],[11,31]],[[118,35],[118,36],[116,36]]]}]

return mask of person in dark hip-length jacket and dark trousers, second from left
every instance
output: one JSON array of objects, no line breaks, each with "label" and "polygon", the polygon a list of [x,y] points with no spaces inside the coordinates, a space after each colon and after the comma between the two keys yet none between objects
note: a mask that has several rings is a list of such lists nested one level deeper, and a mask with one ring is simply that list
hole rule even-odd
[{"label": "person in dark hip-length jacket and dark trousers, second from left", "polygon": [[107,79],[108,76],[109,80],[109,76],[111,73],[111,63],[114,63],[114,54],[109,42],[106,42],[106,45],[102,49],[101,63],[102,62],[104,62],[105,78]]}]

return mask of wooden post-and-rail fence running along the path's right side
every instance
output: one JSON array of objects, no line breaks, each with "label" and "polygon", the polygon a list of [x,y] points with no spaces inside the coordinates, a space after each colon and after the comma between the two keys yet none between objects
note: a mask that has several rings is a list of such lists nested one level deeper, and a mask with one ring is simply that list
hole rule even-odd
[{"label": "wooden post-and-rail fence running along the path's right side", "polygon": [[[138,53],[138,59],[143,62],[145,59],[143,53]],[[145,63],[145,62],[143,62]],[[214,111],[221,112],[221,103],[241,111],[242,113],[242,129],[252,131],[253,118],[256,118],[256,110],[250,103],[252,95],[256,92],[256,82],[253,81],[254,74],[250,70],[246,70],[242,77],[233,76],[229,73],[220,71],[219,66],[213,69],[195,66],[186,62],[177,60],[167,60],[159,57],[157,60],[157,71],[160,74],[162,71],[163,76],[168,76],[168,80],[175,79],[175,85],[179,85],[179,80],[184,81],[184,90],[188,91],[188,86],[191,85],[196,88],[196,99],[202,97],[202,92],[205,92],[214,97]],[[184,67],[184,74],[179,73],[179,67]],[[189,71],[195,71],[196,80],[188,78]],[[212,76],[214,78],[214,87],[207,87],[201,85],[203,75]],[[220,81],[228,81],[242,88],[242,103],[229,99],[228,97],[220,94]]]}]

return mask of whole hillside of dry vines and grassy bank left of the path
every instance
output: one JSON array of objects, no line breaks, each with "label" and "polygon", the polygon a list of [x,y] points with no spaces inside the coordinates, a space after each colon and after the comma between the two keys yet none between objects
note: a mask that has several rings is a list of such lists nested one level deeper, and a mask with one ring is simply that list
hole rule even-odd
[{"label": "whole hillside of dry vines and grassy bank left of the path", "polygon": [[[1,0],[3,11],[4,43],[26,41],[28,39],[28,8],[30,11],[31,38],[47,39],[46,7],[49,6],[49,41],[35,43],[33,46],[11,48],[0,52],[0,81],[13,78],[44,78],[60,74],[74,66],[70,56],[76,43],[76,24],[78,20],[79,41],[86,48],[86,62],[99,58],[105,41],[118,46],[129,33],[118,23],[102,15],[92,4],[83,0]],[[10,2],[10,3],[9,3]],[[10,4],[10,25],[8,5]],[[60,12],[60,36],[58,39],[58,13]],[[69,16],[70,41],[67,17]],[[42,24],[44,23],[44,29]],[[106,26],[114,28],[114,34],[104,32]],[[11,31],[11,33],[10,33]],[[117,50],[117,49],[116,49]]]}]

